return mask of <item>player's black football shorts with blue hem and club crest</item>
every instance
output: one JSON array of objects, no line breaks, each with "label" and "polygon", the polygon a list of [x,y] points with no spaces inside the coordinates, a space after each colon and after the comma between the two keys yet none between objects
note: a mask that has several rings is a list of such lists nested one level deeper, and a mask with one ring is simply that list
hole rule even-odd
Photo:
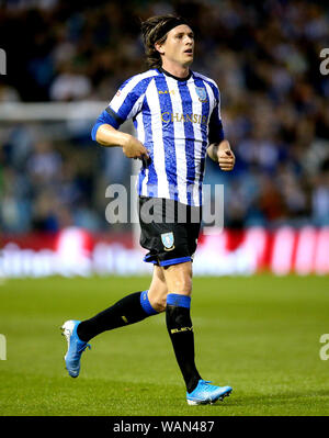
[{"label": "player's black football shorts with blue hem and club crest", "polygon": [[168,267],[192,261],[197,246],[202,207],[162,198],[139,196],[144,261]]}]

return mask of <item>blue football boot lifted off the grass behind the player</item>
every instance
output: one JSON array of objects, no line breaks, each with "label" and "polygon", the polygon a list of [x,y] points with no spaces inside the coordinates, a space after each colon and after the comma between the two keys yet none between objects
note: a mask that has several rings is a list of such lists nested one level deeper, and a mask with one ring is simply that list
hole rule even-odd
[{"label": "blue football boot lifted off the grass behind the player", "polygon": [[68,349],[67,353],[64,357],[66,369],[71,378],[77,378],[80,372],[80,359],[82,352],[88,347],[89,349],[91,346],[83,340],[79,339],[77,334],[77,327],[80,321],[67,321],[60,327],[63,330],[63,336],[66,337]]}]

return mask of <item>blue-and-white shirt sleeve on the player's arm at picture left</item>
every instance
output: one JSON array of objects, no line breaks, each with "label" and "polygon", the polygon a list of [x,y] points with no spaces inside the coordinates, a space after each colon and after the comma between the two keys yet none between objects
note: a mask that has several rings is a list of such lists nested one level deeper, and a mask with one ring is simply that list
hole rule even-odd
[{"label": "blue-and-white shirt sleeve on the player's arm at picture left", "polygon": [[146,87],[146,81],[140,81],[138,76],[126,80],[98,117],[91,131],[92,139],[95,141],[101,125],[109,124],[117,130],[125,121],[135,117],[141,110]]}]

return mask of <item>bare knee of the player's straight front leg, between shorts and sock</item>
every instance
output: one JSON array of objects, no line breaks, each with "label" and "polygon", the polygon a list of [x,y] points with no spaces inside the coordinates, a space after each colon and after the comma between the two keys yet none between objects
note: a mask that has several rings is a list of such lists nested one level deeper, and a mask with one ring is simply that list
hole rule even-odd
[{"label": "bare knee of the player's straight front leg, between shorts and sock", "polygon": [[192,261],[171,265],[162,268],[168,293],[191,295],[192,293]]}]

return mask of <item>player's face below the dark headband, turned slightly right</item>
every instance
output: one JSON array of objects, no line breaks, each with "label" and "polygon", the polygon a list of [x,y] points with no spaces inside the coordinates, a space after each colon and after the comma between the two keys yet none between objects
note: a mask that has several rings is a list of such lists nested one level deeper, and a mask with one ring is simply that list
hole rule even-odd
[{"label": "player's face below the dark headband, turned slightly right", "polygon": [[194,55],[194,34],[186,24],[180,24],[168,32],[166,42],[157,48],[167,60],[190,66]]}]

